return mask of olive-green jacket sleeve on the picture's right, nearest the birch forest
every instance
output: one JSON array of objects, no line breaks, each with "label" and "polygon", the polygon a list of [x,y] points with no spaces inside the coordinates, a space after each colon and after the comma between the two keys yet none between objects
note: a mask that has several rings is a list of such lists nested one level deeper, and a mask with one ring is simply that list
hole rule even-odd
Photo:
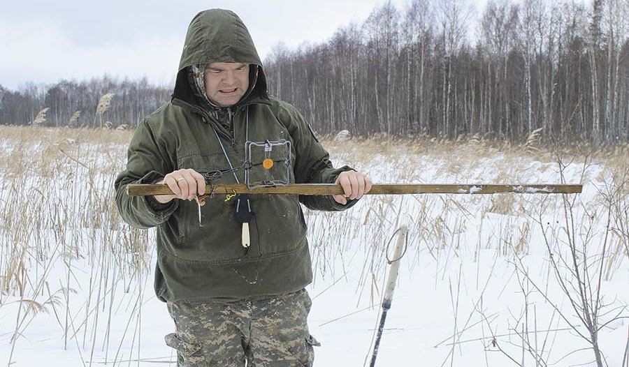
[{"label": "olive-green jacket sleeve on the picture's right, nearest the birch forest", "polygon": [[[293,139],[296,153],[294,170],[296,184],[333,184],[341,172],[353,170],[347,165],[333,167],[330,154],[317,140],[296,107],[280,102],[279,118],[284,126],[287,126]],[[348,199],[344,205],[335,202],[332,195],[300,195],[299,201],[309,209],[342,211],[354,206],[358,200]]]}]

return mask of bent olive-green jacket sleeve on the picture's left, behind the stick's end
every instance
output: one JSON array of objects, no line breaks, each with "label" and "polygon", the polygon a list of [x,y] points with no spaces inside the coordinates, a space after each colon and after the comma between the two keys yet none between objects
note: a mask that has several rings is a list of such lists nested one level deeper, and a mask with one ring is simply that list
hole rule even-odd
[{"label": "bent olive-green jacket sleeve on the picture's left, behind the stick's end", "polygon": [[154,184],[173,171],[164,144],[159,144],[152,126],[144,119],[136,128],[127,151],[126,170],[116,181],[116,205],[122,219],[138,228],[150,228],[164,223],[178,207],[178,200],[166,204],[152,196],[129,196],[128,184]]}]

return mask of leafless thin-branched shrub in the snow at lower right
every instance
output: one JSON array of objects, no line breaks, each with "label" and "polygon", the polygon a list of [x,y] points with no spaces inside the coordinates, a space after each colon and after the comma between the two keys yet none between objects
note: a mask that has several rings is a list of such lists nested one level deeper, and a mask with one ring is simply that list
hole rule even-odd
[{"label": "leafless thin-branched shrub in the snow at lower right", "polygon": [[[557,157],[561,182],[565,183],[566,164],[559,156]],[[591,157],[586,156],[582,172],[585,172],[591,165]],[[617,195],[625,188],[619,188],[617,183],[612,181],[605,187],[608,193],[613,195],[603,195],[605,197],[605,211],[607,213],[588,212],[586,205],[579,200],[577,195],[562,195],[561,208],[563,211],[563,223],[551,223],[544,219],[544,208],[540,210],[535,218],[544,238],[547,248],[551,272],[554,280],[561,289],[561,294],[567,297],[570,308],[574,315],[577,315],[579,324],[570,320],[570,317],[561,310],[558,300],[554,294],[549,294],[535,280],[530,277],[528,269],[523,265],[521,257],[516,257],[516,269],[535,288],[535,291],[544,297],[551,306],[557,310],[558,315],[566,322],[572,331],[579,337],[586,340],[591,345],[594,359],[598,367],[605,366],[604,357],[598,342],[600,329],[607,324],[627,317],[626,307],[619,306],[614,301],[606,301],[602,294],[602,280],[606,268],[609,264],[610,235],[613,233],[612,211],[614,207],[627,210],[626,195]],[[621,182],[621,186],[626,185],[626,181]],[[618,200],[621,199],[621,200]],[[582,213],[582,216],[579,216]],[[603,218],[603,216],[605,218]],[[602,239],[598,239],[593,234],[593,228],[598,220],[605,220],[605,234]],[[567,246],[567,254],[563,250]],[[624,315],[624,316],[623,316]]]}]

